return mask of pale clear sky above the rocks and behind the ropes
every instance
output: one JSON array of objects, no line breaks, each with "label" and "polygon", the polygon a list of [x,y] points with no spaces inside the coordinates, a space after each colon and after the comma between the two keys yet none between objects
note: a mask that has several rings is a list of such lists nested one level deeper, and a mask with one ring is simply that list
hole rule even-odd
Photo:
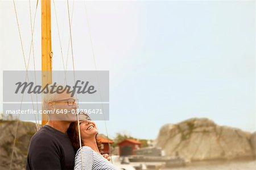
[{"label": "pale clear sky above the rocks and behind the ropes", "polygon": [[[55,5],[67,57],[67,1]],[[110,71],[110,137],[155,139],[166,123],[193,117],[256,131],[255,1],[93,1],[86,8],[97,69]],[[29,2],[16,2],[16,9],[28,60]],[[53,70],[63,70],[55,17],[52,3]],[[1,71],[24,70],[13,1],[0,2],[0,21]],[[75,1],[76,70],[95,70],[86,22],[84,2]],[[40,70],[40,3],[34,45]],[[69,50],[68,70],[70,56]],[[2,81],[0,89],[2,111]],[[106,133],[104,122],[97,125]]]}]

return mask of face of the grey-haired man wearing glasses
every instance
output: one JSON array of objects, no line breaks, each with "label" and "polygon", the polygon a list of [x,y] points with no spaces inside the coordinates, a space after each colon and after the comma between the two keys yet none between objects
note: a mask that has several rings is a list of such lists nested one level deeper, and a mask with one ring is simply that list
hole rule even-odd
[{"label": "face of the grey-haired man wearing glasses", "polygon": [[77,104],[77,100],[71,97],[71,93],[57,94],[55,101],[50,103],[51,110],[55,110],[54,119],[68,122],[76,121]]}]

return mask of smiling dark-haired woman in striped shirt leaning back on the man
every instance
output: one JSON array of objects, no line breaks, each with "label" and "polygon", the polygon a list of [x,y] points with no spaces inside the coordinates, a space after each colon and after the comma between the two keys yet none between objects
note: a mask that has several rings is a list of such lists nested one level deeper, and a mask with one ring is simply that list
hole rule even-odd
[{"label": "smiling dark-haired woman in striped shirt leaning back on the man", "polygon": [[80,120],[81,150],[77,122],[72,122],[68,128],[68,135],[77,151],[74,169],[116,170],[113,164],[100,153],[101,142],[97,138],[98,130],[95,123],[87,114],[80,114]]}]

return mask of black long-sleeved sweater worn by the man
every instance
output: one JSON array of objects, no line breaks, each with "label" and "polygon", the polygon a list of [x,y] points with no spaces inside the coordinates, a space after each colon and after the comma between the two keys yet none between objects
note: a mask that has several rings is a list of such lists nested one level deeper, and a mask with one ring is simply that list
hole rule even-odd
[{"label": "black long-sleeved sweater worn by the man", "polygon": [[74,169],[75,150],[67,134],[44,125],[30,140],[26,169]]}]

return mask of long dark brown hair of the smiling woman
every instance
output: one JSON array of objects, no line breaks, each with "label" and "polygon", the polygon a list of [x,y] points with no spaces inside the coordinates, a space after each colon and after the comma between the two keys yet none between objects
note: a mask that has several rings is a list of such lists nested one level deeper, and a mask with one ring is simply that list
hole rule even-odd
[{"label": "long dark brown hair of the smiling woman", "polygon": [[[69,138],[71,139],[71,142],[73,144],[73,147],[75,148],[75,151],[79,150],[80,144],[79,144],[79,130],[78,130],[77,121],[72,122],[69,125],[67,133],[68,133]],[[96,135],[95,138],[96,138],[98,150],[101,152],[101,140],[100,140],[98,134]]]}]

